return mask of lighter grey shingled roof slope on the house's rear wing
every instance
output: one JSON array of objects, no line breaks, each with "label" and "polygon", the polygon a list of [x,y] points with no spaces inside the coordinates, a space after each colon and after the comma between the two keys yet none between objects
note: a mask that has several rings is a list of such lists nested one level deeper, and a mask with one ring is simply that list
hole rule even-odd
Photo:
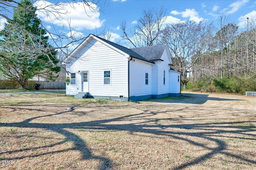
[{"label": "lighter grey shingled roof slope on the house's rear wing", "polygon": [[162,54],[164,53],[165,49],[166,49],[166,44],[132,48],[131,50],[140,54],[141,56],[143,56],[144,58],[150,61],[154,61],[154,60],[161,60]]}]

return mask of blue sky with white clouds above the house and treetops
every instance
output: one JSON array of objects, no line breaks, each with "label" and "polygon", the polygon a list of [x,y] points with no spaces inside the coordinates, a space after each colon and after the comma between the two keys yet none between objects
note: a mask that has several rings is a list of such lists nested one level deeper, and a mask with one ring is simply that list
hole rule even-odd
[{"label": "blue sky with white clouds above the house and treetops", "polygon": [[[56,2],[60,1],[39,0],[36,5],[38,8],[42,8]],[[118,43],[122,43],[120,38],[121,22],[125,21],[128,28],[133,27],[136,21],[142,17],[143,10],[152,8],[159,10],[163,7],[166,9],[166,23],[189,20],[216,23],[218,12],[225,10],[229,21],[237,24],[240,26],[240,30],[243,30],[247,17],[256,18],[256,0],[106,0],[104,8],[95,6],[100,9],[98,12],[90,12],[86,9],[90,17],[84,13],[84,6],[81,3],[78,2],[73,6],[75,9],[68,4],[65,6],[63,12],[68,11],[68,13],[62,15],[63,20],[56,19],[56,16],[51,14],[46,17],[42,12],[39,12],[38,16],[50,31],[60,28],[66,35],[88,36],[106,29],[111,32],[111,40]],[[0,18],[0,24],[4,22],[6,20]],[[2,28],[0,26],[0,29]]]}]

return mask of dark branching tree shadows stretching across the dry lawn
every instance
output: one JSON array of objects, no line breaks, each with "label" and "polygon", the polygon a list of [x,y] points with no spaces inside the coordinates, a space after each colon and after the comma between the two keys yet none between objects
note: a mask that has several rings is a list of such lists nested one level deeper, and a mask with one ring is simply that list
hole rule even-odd
[{"label": "dark branching tree shadows stretching across the dry lawn", "polygon": [[[206,97],[207,98],[207,97]],[[249,162],[252,164],[256,164],[255,160],[247,159],[244,157],[241,157],[236,154],[231,154],[226,152],[227,145],[224,141],[216,139],[214,137],[216,136],[223,136],[222,134],[224,133],[231,133],[231,134],[240,134],[243,136],[243,139],[247,140],[255,140],[256,135],[251,134],[251,132],[256,132],[256,127],[255,126],[250,126],[250,125],[244,125],[244,124],[250,124],[250,123],[256,123],[256,121],[229,121],[229,122],[218,122],[218,123],[192,123],[192,124],[176,124],[176,125],[161,125],[160,121],[169,121],[170,118],[166,119],[157,119],[154,118],[153,123],[152,123],[152,116],[157,115],[159,113],[165,113],[165,111],[152,111],[150,109],[140,109],[140,113],[138,114],[130,114],[130,115],[125,115],[122,117],[117,117],[113,119],[104,119],[104,120],[97,120],[97,121],[86,121],[86,122],[77,122],[77,123],[33,123],[33,120],[40,119],[43,117],[51,118],[52,116],[56,115],[64,115],[66,113],[72,113],[72,114],[85,114],[83,111],[76,111],[75,108],[80,107],[79,104],[73,105],[70,111],[62,111],[49,115],[42,115],[42,116],[37,116],[37,117],[32,117],[29,119],[26,119],[22,122],[19,123],[0,123],[0,127],[19,127],[19,128],[40,128],[40,129],[46,129],[46,130],[51,130],[53,132],[57,132],[59,134],[62,134],[65,136],[65,139],[56,142],[51,145],[45,145],[45,146],[39,146],[39,147],[33,147],[33,148],[26,148],[26,149],[21,149],[21,150],[9,150],[5,152],[0,152],[0,154],[6,154],[6,153],[13,153],[13,152],[20,152],[20,151],[27,151],[27,150],[32,150],[32,149],[38,149],[38,148],[46,148],[46,147],[53,147],[53,146],[58,146],[59,144],[63,144],[66,141],[71,141],[74,144],[73,148],[68,148],[64,150],[56,150],[56,151],[50,151],[50,152],[45,152],[41,154],[35,154],[32,156],[26,155],[26,156],[16,156],[14,159],[22,159],[22,158],[27,158],[27,157],[37,157],[37,156],[42,156],[42,155],[47,155],[47,154],[53,154],[53,153],[58,153],[58,152],[65,152],[68,150],[76,150],[79,151],[82,154],[82,159],[84,160],[98,160],[102,162],[100,166],[98,167],[99,170],[103,169],[111,169],[113,167],[113,163],[111,160],[109,160],[107,157],[104,156],[95,156],[92,154],[91,149],[87,146],[86,142],[82,140],[78,135],[74,134],[73,132],[70,132],[66,129],[83,129],[83,130],[118,130],[118,131],[129,131],[130,133],[133,132],[142,132],[146,134],[155,134],[157,136],[168,136],[170,138],[174,138],[177,140],[183,140],[185,142],[188,142],[192,144],[193,146],[198,146],[202,147],[204,149],[210,150],[210,152],[206,154],[202,154],[199,158],[196,160],[191,160],[190,162],[186,162],[184,164],[181,164],[177,167],[174,168],[174,170],[182,169],[182,168],[187,168],[189,166],[198,164],[204,160],[207,160],[214,156],[217,153],[224,154],[227,156],[234,157],[236,159]],[[108,107],[115,107],[115,106],[108,106]],[[129,105],[126,105],[124,107],[129,107]],[[23,108],[20,108],[23,109]],[[33,110],[33,109],[32,109]],[[31,109],[30,109],[31,111]],[[41,109],[34,109],[34,111],[42,111]],[[178,111],[178,110],[176,110]],[[182,111],[180,109],[179,111]],[[166,111],[166,113],[170,113],[170,111]],[[207,115],[204,115],[207,117]],[[214,115],[211,115],[214,116]],[[195,116],[191,117],[177,117],[177,118],[172,118],[172,119],[192,119]],[[131,123],[122,123],[120,125],[120,122],[127,122],[130,121]],[[133,122],[138,122],[139,123],[133,123]],[[111,123],[111,124],[108,124]],[[239,126],[239,124],[243,124],[243,126]],[[178,131],[170,131],[168,128],[178,128],[178,129],[188,129],[188,130],[204,130],[200,132],[178,132]],[[232,130],[224,130],[230,128]],[[167,131],[168,130],[168,131]],[[250,132],[250,133],[248,133]],[[191,140],[188,138],[188,136],[193,136],[196,138],[201,138],[204,140],[207,140],[209,142],[214,142],[216,144],[216,147],[209,147],[206,144],[200,142],[200,140]],[[247,136],[247,137],[244,137]],[[241,137],[239,137],[241,138]]]}]

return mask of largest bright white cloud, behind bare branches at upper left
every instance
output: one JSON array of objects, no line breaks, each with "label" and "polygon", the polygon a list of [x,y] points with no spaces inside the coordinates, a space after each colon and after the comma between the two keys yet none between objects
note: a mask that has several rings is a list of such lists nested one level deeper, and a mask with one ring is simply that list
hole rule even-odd
[{"label": "largest bright white cloud, behind bare branches at upper left", "polygon": [[[54,2],[54,1],[53,1]],[[36,2],[38,17],[44,21],[57,26],[76,28],[76,30],[93,30],[100,28],[105,20],[100,20],[100,12],[96,4],[90,4],[96,11],[92,12],[90,8],[82,2],[61,3],[58,6],[39,0]],[[54,9],[51,7],[54,6]],[[54,12],[49,12],[54,11]],[[86,12],[85,12],[86,11]]]}]

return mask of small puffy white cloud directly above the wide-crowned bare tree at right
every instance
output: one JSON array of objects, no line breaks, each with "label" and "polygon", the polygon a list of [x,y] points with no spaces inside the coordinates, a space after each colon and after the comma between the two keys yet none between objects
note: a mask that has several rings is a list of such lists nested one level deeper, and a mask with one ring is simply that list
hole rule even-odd
[{"label": "small puffy white cloud directly above the wide-crowned bare tree at right", "polygon": [[174,15],[181,15],[183,18],[189,18],[190,21],[194,21],[199,23],[200,21],[204,20],[204,18],[199,17],[198,12],[195,9],[186,9],[185,11],[178,12],[176,10],[171,11],[171,14]]}]

